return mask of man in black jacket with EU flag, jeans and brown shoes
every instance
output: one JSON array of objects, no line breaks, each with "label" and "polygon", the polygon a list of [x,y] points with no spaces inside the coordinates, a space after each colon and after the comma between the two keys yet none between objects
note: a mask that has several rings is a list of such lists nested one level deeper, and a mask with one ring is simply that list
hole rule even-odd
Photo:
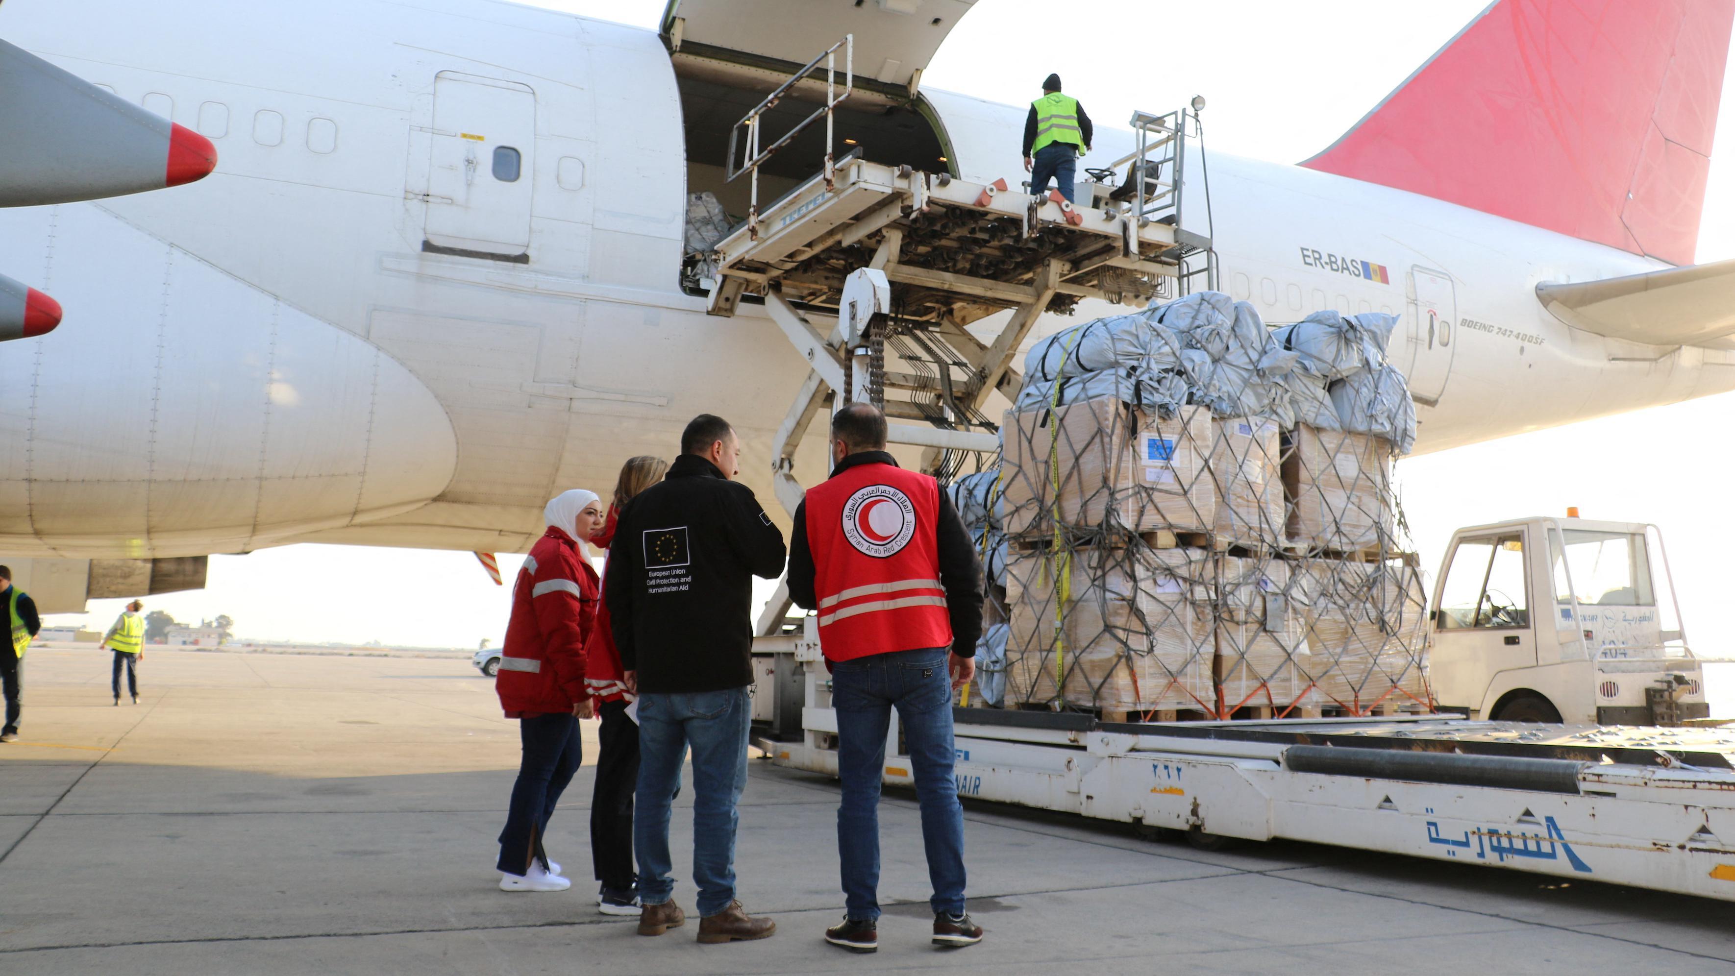
[{"label": "man in black jacket with EU flag, jeans and brown shoes", "polygon": [[736,801],[748,780],[753,577],[782,572],[782,534],[732,478],[729,421],[692,418],[663,482],[619,513],[604,595],[628,688],[638,693],[638,934],[685,921],[675,905],[668,818],[692,745],[692,879],[699,941],[767,938],[770,919],[736,901]]}]

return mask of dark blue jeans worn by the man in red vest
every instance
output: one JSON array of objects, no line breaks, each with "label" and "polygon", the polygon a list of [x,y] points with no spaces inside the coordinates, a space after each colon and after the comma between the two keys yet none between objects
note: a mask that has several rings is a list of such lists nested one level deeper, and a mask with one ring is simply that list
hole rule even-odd
[{"label": "dark blue jeans worn by the man in red vest", "polygon": [[831,671],[838,718],[838,862],[850,919],[880,917],[880,782],[892,707],[904,725],[921,804],[921,843],[935,912],[965,910],[965,811],[953,780],[953,681],[946,648],[873,654]]}]

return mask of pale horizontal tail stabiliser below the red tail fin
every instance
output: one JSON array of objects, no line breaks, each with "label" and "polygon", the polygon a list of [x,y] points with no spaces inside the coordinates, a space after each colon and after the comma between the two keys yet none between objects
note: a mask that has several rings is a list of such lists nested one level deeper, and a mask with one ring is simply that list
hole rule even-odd
[{"label": "pale horizontal tail stabiliser below the red tail fin", "polygon": [[1735,260],[1542,283],[1535,296],[1568,326],[1608,338],[1730,348],[1725,336],[1735,335]]}]

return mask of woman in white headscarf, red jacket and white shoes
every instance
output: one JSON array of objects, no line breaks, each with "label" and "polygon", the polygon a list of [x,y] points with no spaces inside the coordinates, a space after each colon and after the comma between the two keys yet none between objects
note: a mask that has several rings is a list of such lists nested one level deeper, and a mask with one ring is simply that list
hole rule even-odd
[{"label": "woman in white headscarf, red jacket and white shoes", "polygon": [[524,758],[500,832],[501,891],[566,891],[543,834],[579,765],[578,719],[592,716],[585,690],[585,641],[597,622],[599,579],[581,539],[602,525],[595,492],[574,489],[543,510],[548,530],[531,546],[512,589],[512,622],[494,692],[519,719]]}]

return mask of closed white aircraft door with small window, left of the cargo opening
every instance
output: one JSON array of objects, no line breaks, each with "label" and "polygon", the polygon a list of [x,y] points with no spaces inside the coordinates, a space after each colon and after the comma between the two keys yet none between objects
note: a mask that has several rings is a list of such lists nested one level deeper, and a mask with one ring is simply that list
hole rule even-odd
[{"label": "closed white aircraft door with small window, left of the cargo opening", "polygon": [[441,71],[427,192],[427,246],[529,260],[536,92]]}]

